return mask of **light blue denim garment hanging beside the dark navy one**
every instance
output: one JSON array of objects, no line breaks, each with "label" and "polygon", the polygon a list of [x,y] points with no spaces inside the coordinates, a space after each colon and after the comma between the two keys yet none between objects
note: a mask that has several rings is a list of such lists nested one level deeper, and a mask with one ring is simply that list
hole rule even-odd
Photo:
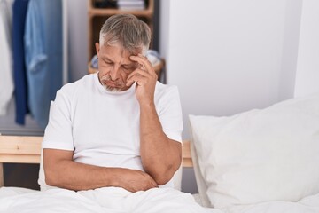
[{"label": "light blue denim garment hanging beside the dark navy one", "polygon": [[62,50],[61,0],[30,0],[25,32],[28,106],[43,129],[51,100],[62,86]]}]

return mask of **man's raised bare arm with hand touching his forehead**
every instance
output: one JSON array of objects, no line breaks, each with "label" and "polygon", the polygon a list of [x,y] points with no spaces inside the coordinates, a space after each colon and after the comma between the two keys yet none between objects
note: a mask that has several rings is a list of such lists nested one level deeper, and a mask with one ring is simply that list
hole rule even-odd
[{"label": "man's raised bare arm with hand touching his forehead", "polygon": [[140,153],[142,164],[158,185],[165,185],[182,162],[182,144],[168,138],[156,111],[154,91],[157,75],[143,56],[131,56],[140,67],[128,76],[127,85],[136,82],[136,99],[140,105]]}]

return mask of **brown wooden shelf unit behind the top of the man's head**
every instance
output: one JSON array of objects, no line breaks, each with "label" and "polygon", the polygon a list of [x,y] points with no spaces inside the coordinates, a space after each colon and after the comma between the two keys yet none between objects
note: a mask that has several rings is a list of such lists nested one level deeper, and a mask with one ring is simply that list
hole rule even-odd
[{"label": "brown wooden shelf unit behind the top of the man's head", "polygon": [[[88,6],[88,20],[89,20],[89,28],[88,28],[88,36],[89,36],[89,43],[88,43],[88,57],[89,60],[96,54],[95,50],[95,43],[98,42],[99,38],[99,31],[102,28],[105,20],[114,15],[119,13],[131,13],[136,15],[137,18],[144,20],[149,27],[153,28],[153,13],[154,13],[154,0],[147,0],[145,10],[139,11],[122,11],[118,9],[107,9],[107,8],[95,8],[94,2],[95,0],[89,0]],[[153,31],[153,30],[152,30]],[[89,61],[88,60],[88,61]]]}]

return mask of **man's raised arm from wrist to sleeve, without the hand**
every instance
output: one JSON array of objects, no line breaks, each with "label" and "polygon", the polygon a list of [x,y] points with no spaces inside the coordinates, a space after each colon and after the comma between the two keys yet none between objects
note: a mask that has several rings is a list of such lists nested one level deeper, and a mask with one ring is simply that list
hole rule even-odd
[{"label": "man's raised arm from wrist to sleeve, without the hand", "polygon": [[144,170],[165,185],[181,165],[182,144],[163,132],[154,105],[140,106],[141,158]]}]

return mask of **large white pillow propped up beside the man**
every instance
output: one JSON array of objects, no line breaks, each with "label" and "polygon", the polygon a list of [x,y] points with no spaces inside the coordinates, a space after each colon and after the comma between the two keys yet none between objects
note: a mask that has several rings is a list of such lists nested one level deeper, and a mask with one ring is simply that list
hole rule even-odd
[{"label": "large white pillow propped up beside the man", "polygon": [[319,94],[190,122],[198,191],[215,208],[319,193]]}]

